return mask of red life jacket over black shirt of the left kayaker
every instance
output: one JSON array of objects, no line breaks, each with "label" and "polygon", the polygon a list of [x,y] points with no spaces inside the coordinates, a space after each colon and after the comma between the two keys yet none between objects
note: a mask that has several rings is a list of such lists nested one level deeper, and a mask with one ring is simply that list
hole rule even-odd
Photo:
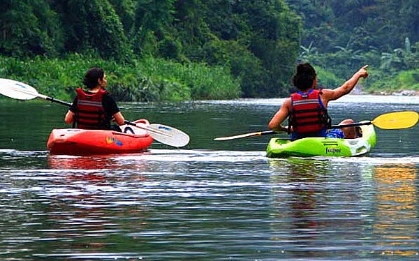
[{"label": "red life jacket over black shirt of the left kayaker", "polygon": [[87,94],[81,88],[77,92],[76,121],[78,128],[107,129],[105,108],[102,105],[103,94],[106,91],[100,89],[94,94]]}]

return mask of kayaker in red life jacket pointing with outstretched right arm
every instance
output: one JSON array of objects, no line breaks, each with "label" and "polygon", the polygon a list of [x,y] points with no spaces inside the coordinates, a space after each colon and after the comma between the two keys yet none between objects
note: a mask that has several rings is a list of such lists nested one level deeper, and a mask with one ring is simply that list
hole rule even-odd
[{"label": "kayaker in red life jacket pointing with outstretched right arm", "polygon": [[[331,119],[328,115],[328,103],[349,94],[358,80],[368,77],[367,65],[363,66],[341,87],[336,89],[316,89],[317,74],[314,68],[306,63],[299,64],[292,82],[297,92],[291,94],[274,114],[268,127],[275,132],[286,130],[291,140],[302,137],[338,137],[353,139],[358,137],[354,127],[328,130]],[[288,126],[281,124],[288,118]],[[351,124],[352,119],[345,119],[340,124]]]}]

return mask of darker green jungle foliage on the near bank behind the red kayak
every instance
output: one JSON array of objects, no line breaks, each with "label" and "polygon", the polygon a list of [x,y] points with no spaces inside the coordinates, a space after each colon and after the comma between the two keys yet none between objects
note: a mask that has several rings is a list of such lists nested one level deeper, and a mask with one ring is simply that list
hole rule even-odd
[{"label": "darker green jungle foliage on the near bank behind the red kayak", "polygon": [[[46,82],[24,71],[46,57],[57,63],[45,68],[57,86],[54,76],[78,82],[90,65],[116,64],[110,89],[124,100],[279,96],[289,91],[300,25],[284,0],[0,0],[0,76]],[[22,70],[6,63],[19,60]],[[66,63],[78,70],[55,71]]]}]

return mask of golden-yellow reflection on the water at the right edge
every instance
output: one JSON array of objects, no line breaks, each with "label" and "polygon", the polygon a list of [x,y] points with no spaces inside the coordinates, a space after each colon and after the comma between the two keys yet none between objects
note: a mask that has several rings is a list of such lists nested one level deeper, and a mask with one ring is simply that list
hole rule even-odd
[{"label": "golden-yellow reflection on the water at the right edge", "polygon": [[374,234],[383,255],[418,255],[418,213],[414,164],[377,165]]}]

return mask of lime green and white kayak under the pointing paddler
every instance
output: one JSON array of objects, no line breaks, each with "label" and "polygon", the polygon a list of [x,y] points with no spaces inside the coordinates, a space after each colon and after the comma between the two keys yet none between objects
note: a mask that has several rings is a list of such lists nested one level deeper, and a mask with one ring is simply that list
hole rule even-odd
[{"label": "lime green and white kayak under the pointing paddler", "polygon": [[300,140],[291,141],[274,137],[267,144],[267,156],[269,158],[285,158],[289,156],[351,157],[367,154],[376,144],[376,133],[372,124],[360,127],[362,129],[362,137],[356,139],[305,137]]}]

